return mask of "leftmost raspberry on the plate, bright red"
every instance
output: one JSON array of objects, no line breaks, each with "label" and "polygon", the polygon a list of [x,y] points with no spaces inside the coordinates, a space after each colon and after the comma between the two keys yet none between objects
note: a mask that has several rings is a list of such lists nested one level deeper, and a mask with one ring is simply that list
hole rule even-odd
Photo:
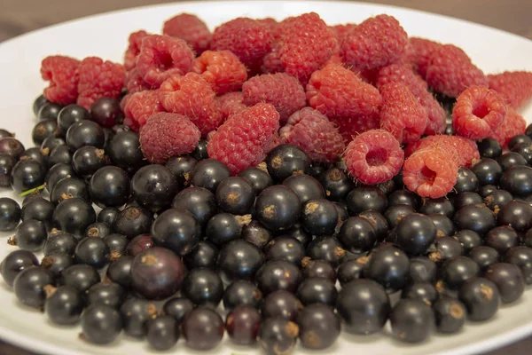
[{"label": "leftmost raspberry on the plate, bright red", "polygon": [[43,95],[51,102],[68,105],[76,101],[79,82],[78,59],[65,56],[50,56],[41,62],[41,76],[50,82]]}]

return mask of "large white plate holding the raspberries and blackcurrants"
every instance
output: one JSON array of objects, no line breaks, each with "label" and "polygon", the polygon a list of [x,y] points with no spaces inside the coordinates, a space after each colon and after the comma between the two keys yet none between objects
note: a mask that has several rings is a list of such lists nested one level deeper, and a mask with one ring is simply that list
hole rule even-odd
[{"label": "large white plate holding the raspberries and blackcurrants", "polygon": [[[392,6],[332,3],[332,2],[219,2],[182,3],[150,6],[122,12],[112,12],[83,20],[74,20],[44,28],[0,44],[0,126],[17,133],[17,138],[31,146],[30,131],[35,124],[31,105],[43,89],[39,75],[40,61],[51,54],[62,53],[77,58],[97,55],[121,61],[130,32],[145,28],[159,33],[163,20],[179,12],[196,13],[211,28],[238,16],[274,17],[278,20],[303,12],[317,12],[329,24],[360,22],[379,13],[394,15],[411,36],[424,36],[444,43],[455,43],[473,58],[485,72],[503,70],[532,71],[532,42],[519,36],[475,25],[462,20],[400,9]],[[532,107],[523,111],[532,122]],[[11,193],[3,192],[11,196]],[[0,260],[12,250],[0,237]],[[79,327],[56,327],[39,312],[21,306],[11,289],[0,280],[0,336],[39,353],[51,354],[147,354],[145,342],[126,339],[111,346],[100,347],[77,339]],[[385,332],[387,333],[387,332]],[[528,290],[519,304],[503,307],[495,319],[483,324],[468,322],[459,335],[434,335],[419,345],[395,342],[387,335],[369,337],[342,333],[339,341],[322,353],[348,355],[409,354],[425,355],[466,354],[488,351],[521,337],[532,334],[532,291]],[[189,351],[180,341],[175,351],[180,354],[198,354]],[[256,348],[238,348],[224,340],[211,353],[255,354]],[[298,348],[297,353],[313,353]]]}]

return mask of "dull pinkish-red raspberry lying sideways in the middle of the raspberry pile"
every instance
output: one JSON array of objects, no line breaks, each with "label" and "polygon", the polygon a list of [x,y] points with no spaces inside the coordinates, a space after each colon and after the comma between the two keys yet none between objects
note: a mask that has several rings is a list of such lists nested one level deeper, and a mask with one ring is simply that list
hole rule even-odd
[{"label": "dull pinkish-red raspberry lying sideways in the middle of the raspberry pile", "polygon": [[259,102],[275,106],[281,122],[286,122],[290,114],[306,105],[305,90],[301,83],[286,73],[254,76],[242,85],[242,94],[247,106]]}]

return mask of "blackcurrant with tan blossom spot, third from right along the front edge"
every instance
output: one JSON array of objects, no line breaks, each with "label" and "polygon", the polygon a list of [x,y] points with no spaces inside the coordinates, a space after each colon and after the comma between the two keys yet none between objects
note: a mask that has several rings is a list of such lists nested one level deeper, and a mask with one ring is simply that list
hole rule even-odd
[{"label": "blackcurrant with tan blossom spot, third from right along the front edge", "polygon": [[480,277],[466,280],[458,290],[458,299],[465,304],[468,318],[473,321],[492,318],[500,303],[495,283]]}]

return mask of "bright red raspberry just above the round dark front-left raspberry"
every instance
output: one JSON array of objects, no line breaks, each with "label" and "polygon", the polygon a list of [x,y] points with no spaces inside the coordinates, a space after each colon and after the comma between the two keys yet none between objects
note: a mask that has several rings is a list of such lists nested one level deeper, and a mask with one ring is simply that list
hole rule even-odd
[{"label": "bright red raspberry just above the round dark front-left raspberry", "polygon": [[170,76],[160,85],[160,101],[166,111],[187,116],[202,137],[223,122],[215,96],[209,83],[196,73]]}]

